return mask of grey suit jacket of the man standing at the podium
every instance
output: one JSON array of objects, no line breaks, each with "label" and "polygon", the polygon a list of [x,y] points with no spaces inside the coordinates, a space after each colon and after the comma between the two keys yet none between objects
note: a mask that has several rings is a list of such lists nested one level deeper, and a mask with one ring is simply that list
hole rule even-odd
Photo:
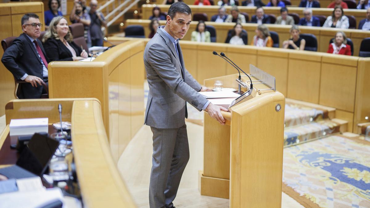
[{"label": "grey suit jacket of the man standing at the podium", "polygon": [[159,28],[145,47],[144,65],[149,95],[144,124],[151,127],[182,127],[185,124],[185,101],[199,111],[207,102],[206,98],[198,93],[202,86],[185,68],[181,47],[178,47],[178,52],[179,57],[174,44]]}]

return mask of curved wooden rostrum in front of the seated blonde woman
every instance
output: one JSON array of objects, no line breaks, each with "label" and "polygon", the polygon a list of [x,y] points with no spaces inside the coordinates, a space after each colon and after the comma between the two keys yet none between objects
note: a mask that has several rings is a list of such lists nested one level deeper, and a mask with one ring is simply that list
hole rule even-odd
[{"label": "curved wooden rostrum in front of the seated blonde woman", "polygon": [[111,48],[92,62],[49,64],[49,97],[95,97],[117,161],[144,121],[144,41]]}]

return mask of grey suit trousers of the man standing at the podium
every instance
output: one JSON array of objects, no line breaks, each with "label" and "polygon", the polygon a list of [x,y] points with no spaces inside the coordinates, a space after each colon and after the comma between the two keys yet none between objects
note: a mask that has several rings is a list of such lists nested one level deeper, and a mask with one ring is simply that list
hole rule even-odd
[{"label": "grey suit trousers of the man standing at the podium", "polygon": [[151,208],[173,207],[182,173],[189,161],[186,124],[180,128],[154,128],[153,157],[149,185]]}]

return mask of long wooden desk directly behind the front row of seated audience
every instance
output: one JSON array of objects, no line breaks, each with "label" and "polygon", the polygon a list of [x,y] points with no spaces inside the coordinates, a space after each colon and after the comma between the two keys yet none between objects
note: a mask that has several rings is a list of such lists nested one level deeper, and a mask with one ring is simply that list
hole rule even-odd
[{"label": "long wooden desk directly behind the front row of seated audience", "polygon": [[[148,36],[150,33],[149,30],[149,23],[150,20],[127,20],[127,25],[138,24],[144,27],[145,36]],[[166,21],[162,20],[159,21],[161,25],[164,25]],[[191,40],[190,33],[195,31],[195,27],[198,24],[197,21],[192,21],[190,24],[189,31],[183,40]],[[235,23],[215,23],[215,22],[206,22],[207,25],[212,25],[216,28],[216,42],[217,43],[225,43],[228,31],[231,30]],[[255,36],[255,30],[257,24],[255,23],[245,23],[242,24],[243,29],[248,33],[248,44],[253,40],[253,36]],[[276,24],[266,24],[270,31],[275,31],[279,34],[279,46],[282,47],[283,41],[288,40],[290,38],[290,27],[289,25],[276,25]],[[317,51],[326,52],[329,47],[329,41],[332,39],[337,31],[344,31],[348,38],[351,38],[354,45],[353,55],[358,56],[360,50],[360,44],[363,38],[370,37],[370,31],[363,31],[363,30],[354,30],[354,29],[337,29],[337,28],[323,28],[323,27],[307,27],[307,26],[299,26],[301,30],[301,34],[309,33],[314,34],[317,38]]]}]

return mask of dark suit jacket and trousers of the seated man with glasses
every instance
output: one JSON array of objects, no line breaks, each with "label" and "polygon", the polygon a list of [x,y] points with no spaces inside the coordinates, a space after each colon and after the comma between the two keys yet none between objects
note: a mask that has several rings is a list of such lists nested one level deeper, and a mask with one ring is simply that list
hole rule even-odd
[{"label": "dark suit jacket and trousers of the seated man with glasses", "polygon": [[[46,61],[49,63],[50,60],[46,56],[43,44],[36,38],[38,45],[43,51]],[[27,37],[26,34],[21,34],[17,37],[11,46],[4,52],[3,58],[1,58],[4,66],[16,77],[20,79],[24,74],[32,75],[43,78],[43,64],[41,63],[40,57],[33,43]],[[33,99],[40,98],[43,87],[38,85],[32,87],[30,83],[21,84],[20,98]]]}]

